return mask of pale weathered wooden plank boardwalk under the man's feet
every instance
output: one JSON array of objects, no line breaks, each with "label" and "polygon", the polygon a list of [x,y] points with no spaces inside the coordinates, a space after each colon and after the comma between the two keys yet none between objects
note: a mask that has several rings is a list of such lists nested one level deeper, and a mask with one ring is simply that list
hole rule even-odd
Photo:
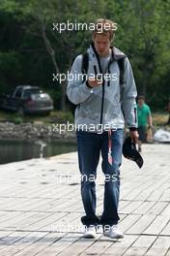
[{"label": "pale weathered wooden plank boardwalk under the man's feet", "polygon": [[[170,256],[170,144],[145,144],[145,165],[123,159],[120,229],[82,238],[76,153],[0,166],[0,256]],[[1,156],[3,157],[3,156]],[[103,176],[98,170],[98,214]]]}]

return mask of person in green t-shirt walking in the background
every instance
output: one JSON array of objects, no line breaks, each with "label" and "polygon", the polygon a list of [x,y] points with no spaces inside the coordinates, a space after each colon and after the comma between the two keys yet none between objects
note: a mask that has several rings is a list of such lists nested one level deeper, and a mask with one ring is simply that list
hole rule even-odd
[{"label": "person in green t-shirt walking in the background", "polygon": [[147,128],[153,127],[153,119],[150,107],[145,103],[145,97],[139,95],[137,99],[137,118],[138,118],[138,151],[142,151],[142,143],[147,141]]}]

